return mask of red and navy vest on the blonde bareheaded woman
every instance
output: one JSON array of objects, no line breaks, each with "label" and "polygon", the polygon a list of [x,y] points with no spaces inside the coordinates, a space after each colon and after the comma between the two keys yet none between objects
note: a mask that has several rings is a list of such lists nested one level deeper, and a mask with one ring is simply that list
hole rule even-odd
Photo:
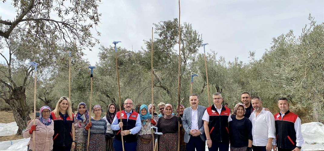
[{"label": "red and navy vest on the blonde bareheaded woman", "polygon": [[65,116],[66,120],[61,113],[60,117],[55,117],[54,112],[51,112],[51,118],[54,121],[53,146],[71,147],[72,145],[71,132],[74,114],[72,113],[72,118],[68,114],[65,114]]}]

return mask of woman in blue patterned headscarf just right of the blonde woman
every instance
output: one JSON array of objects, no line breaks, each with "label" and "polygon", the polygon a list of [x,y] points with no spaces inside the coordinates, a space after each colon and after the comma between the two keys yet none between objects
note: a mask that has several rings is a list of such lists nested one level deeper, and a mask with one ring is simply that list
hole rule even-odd
[{"label": "woman in blue patterned headscarf just right of the blonde woman", "polygon": [[75,151],[85,151],[85,144],[87,136],[83,135],[83,129],[89,119],[89,111],[87,104],[80,102],[78,105],[78,112],[74,115],[74,129],[75,129]]}]

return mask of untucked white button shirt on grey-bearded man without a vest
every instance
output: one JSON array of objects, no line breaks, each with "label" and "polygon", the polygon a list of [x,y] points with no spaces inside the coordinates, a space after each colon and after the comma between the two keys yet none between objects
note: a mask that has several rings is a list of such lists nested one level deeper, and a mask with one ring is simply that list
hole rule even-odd
[{"label": "untucked white button shirt on grey-bearded man without a vest", "polygon": [[275,138],[274,117],[270,111],[265,111],[264,108],[262,108],[258,116],[256,116],[255,112],[256,110],[249,117],[252,122],[252,145],[266,146],[268,138]]}]

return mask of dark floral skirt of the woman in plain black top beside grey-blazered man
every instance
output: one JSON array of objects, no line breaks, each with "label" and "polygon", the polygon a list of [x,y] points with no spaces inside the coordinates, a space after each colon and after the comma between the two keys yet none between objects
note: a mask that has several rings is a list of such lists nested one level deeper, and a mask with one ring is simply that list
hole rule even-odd
[{"label": "dark floral skirt of the woman in plain black top beside grey-blazered man", "polygon": [[164,133],[161,135],[159,151],[178,151],[178,133]]}]

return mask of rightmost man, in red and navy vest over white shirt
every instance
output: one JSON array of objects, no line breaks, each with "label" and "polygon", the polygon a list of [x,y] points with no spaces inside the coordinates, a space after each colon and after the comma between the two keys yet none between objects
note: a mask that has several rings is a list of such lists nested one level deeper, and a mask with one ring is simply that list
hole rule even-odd
[{"label": "rightmost man, in red and navy vest over white shirt", "polygon": [[[280,113],[274,114],[276,138],[273,139],[273,150],[300,151],[304,143],[301,121],[297,114],[289,111],[287,98],[279,98]],[[287,139],[288,138],[288,139]]]}]

